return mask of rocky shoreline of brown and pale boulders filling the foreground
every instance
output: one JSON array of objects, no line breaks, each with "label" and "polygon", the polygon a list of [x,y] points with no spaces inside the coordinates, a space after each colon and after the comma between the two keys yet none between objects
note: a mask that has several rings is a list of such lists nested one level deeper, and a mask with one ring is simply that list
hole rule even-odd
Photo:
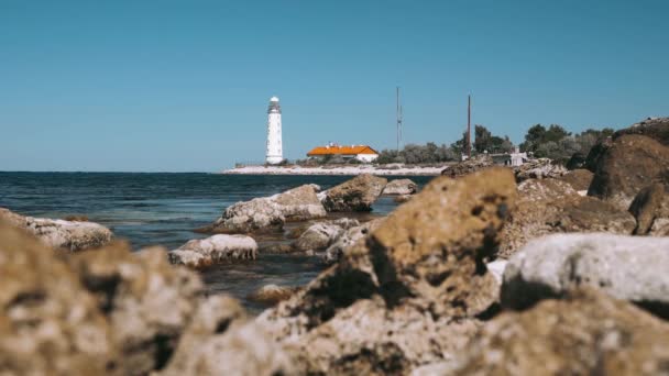
[{"label": "rocky shoreline of brown and pale boulders filling the foreground", "polygon": [[[668,132],[669,119],[621,130],[575,170],[478,158],[418,192],[372,175],[325,191],[304,185],[230,206],[200,229],[210,237],[169,252],[132,252],[95,223],[2,210],[0,365],[68,375],[666,374]],[[382,195],[407,198],[373,221],[328,218],[366,212]],[[271,250],[259,240],[288,223],[304,225],[273,251],[319,257],[329,266],[318,277],[260,289],[253,299],[271,307],[257,317],[207,296],[198,268],[261,262]]]}]

